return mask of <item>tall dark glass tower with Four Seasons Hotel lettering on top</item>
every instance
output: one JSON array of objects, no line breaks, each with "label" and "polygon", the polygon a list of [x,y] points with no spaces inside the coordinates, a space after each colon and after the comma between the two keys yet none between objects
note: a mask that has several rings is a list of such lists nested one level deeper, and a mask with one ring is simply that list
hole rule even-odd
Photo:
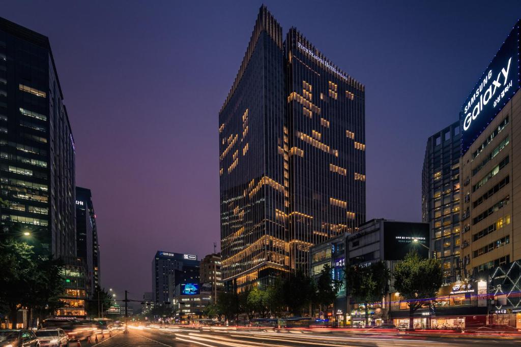
[{"label": "tall dark glass tower with Four Seasons Hotel lettering on top", "polygon": [[309,248],[365,221],[365,88],[261,7],[219,112],[223,278],[308,271]]}]

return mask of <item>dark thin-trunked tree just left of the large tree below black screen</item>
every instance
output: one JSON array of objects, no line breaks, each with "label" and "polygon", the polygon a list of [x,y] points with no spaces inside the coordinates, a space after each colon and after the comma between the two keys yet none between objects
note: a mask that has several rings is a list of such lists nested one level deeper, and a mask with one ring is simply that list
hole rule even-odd
[{"label": "dark thin-trunked tree just left of the large tree below black screen", "polygon": [[364,304],[365,325],[369,325],[369,304],[381,301],[389,291],[389,271],[384,262],[369,266],[346,266],[346,280],[350,295]]}]

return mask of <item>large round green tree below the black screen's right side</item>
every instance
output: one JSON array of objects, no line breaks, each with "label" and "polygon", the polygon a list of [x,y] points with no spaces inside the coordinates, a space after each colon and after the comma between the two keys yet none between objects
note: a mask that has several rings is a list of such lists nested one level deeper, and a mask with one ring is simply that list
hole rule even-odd
[{"label": "large round green tree below the black screen's right side", "polygon": [[394,266],[394,289],[407,299],[409,329],[414,329],[414,312],[423,300],[436,296],[443,281],[441,264],[436,259],[421,259],[416,251],[409,252]]}]

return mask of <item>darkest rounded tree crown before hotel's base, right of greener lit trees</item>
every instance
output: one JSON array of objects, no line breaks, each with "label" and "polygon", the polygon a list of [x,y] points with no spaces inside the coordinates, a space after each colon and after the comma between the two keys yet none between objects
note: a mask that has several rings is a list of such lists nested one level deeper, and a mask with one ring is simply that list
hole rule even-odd
[{"label": "darkest rounded tree crown before hotel's base, right of greener lit trees", "polygon": [[312,301],[316,292],[314,281],[300,270],[291,273],[282,288],[284,302],[295,316],[302,315],[302,310]]}]

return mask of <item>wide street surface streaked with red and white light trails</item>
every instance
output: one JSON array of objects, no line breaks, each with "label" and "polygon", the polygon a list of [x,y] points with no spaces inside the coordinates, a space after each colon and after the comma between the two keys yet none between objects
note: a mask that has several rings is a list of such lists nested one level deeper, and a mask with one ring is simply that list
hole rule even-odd
[{"label": "wide street surface streaked with red and white light trails", "polygon": [[[370,333],[348,331],[303,331],[271,329],[227,329],[227,328],[156,328],[129,327],[129,333],[118,332],[112,338],[98,344],[111,346],[459,346],[475,347],[486,345],[518,345],[517,338],[493,337],[449,337],[444,335],[422,336],[419,334]],[[71,343],[71,345],[73,345]],[[90,345],[90,344],[87,344]],[[82,346],[85,344],[82,343]]]}]

